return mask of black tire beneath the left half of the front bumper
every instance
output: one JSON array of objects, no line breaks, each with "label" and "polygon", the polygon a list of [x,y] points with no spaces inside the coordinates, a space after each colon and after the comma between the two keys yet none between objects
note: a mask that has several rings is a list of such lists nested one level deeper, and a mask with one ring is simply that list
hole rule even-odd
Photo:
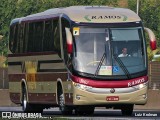
[{"label": "black tire beneath the left half of the front bumper", "polygon": [[93,106],[77,106],[75,108],[76,115],[93,115],[94,107]]}]

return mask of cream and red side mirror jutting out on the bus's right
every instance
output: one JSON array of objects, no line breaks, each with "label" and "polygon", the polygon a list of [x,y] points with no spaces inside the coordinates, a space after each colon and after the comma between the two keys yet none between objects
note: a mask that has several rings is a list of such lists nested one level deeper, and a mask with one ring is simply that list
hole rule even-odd
[{"label": "cream and red side mirror jutting out on the bus's right", "polygon": [[157,45],[156,45],[156,37],[154,35],[154,33],[152,32],[152,30],[150,30],[149,28],[144,28],[144,30],[148,33],[149,35],[149,39],[150,39],[150,48],[152,50],[155,50],[157,48]]}]

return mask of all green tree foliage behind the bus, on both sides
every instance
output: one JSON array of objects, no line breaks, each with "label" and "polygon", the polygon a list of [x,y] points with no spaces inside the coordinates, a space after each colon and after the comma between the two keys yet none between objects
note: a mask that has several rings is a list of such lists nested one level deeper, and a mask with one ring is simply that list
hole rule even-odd
[{"label": "all green tree foliage behind the bus, on both sides", "polygon": [[[120,0],[1,0],[0,4],[0,54],[7,55],[9,24],[12,19],[23,17],[56,7],[73,5],[118,6]],[[125,0],[124,0],[125,1]],[[136,1],[128,0],[128,8],[136,12]],[[160,2],[159,0],[140,0],[139,16],[144,26],[152,29],[160,46]],[[149,45],[149,42],[147,42]]]}]

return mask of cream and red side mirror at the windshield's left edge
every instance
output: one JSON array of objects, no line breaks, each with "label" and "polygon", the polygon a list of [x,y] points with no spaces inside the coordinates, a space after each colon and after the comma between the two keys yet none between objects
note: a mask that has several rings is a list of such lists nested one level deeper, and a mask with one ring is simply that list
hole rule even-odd
[{"label": "cream and red side mirror at the windshield's left edge", "polygon": [[73,42],[72,42],[72,34],[69,28],[65,28],[66,31],[66,41],[67,41],[67,52],[71,54],[73,52]]}]

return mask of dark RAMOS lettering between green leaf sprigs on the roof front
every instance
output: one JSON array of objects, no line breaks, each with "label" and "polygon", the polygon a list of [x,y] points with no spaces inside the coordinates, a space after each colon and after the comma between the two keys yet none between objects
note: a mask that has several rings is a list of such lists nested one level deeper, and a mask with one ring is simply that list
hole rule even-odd
[{"label": "dark RAMOS lettering between green leaf sprigs on the roof front", "polygon": [[116,19],[122,19],[123,21],[127,21],[128,17],[126,15],[85,15],[84,19],[91,22],[93,20],[116,20]]}]

